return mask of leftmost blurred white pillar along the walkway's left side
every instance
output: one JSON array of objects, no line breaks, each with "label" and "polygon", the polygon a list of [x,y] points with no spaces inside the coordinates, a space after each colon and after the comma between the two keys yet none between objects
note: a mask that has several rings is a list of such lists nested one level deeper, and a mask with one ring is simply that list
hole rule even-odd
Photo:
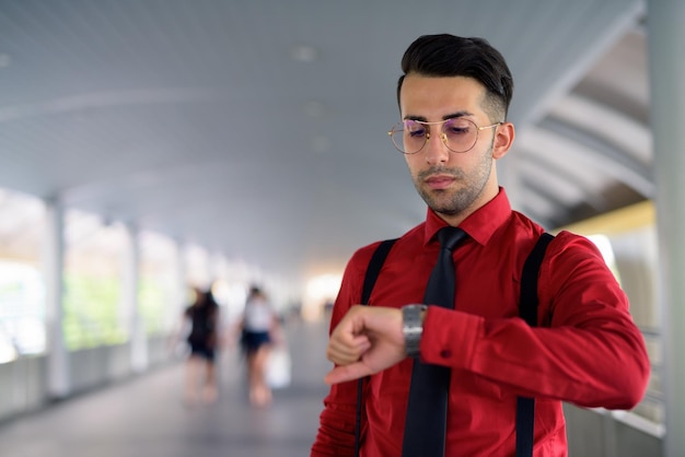
[{"label": "leftmost blurred white pillar along the walkway's left side", "polygon": [[62,327],[63,291],[63,209],[59,201],[48,201],[43,245],[47,327],[47,390],[54,399],[71,392],[69,351],[65,345]]}]

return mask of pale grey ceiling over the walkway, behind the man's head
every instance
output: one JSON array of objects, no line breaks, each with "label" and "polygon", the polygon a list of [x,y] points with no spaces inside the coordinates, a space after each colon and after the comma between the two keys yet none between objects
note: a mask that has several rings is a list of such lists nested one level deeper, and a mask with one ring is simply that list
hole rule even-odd
[{"label": "pale grey ceiling over the walkway, behind the man's head", "polygon": [[548,228],[651,197],[628,0],[0,0],[0,187],[299,281],[425,216],[386,131],[404,49],[512,69],[500,181]]}]

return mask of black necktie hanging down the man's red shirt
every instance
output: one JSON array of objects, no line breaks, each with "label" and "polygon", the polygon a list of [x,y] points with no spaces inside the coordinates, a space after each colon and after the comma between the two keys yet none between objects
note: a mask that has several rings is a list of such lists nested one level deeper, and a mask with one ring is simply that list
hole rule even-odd
[{"label": "black necktie hanging down the man's red shirt", "polygon": [[[425,304],[454,307],[452,250],[465,236],[463,230],[451,226],[438,232],[440,254],[426,286]],[[450,368],[414,361],[403,457],[444,456],[449,392]]]}]

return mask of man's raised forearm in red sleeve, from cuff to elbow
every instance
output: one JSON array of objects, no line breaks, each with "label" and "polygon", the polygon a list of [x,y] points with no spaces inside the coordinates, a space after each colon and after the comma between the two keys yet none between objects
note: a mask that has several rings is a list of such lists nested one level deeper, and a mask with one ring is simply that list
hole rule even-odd
[{"label": "man's raised forearm in red sleeve, from cuff to elbow", "polygon": [[430,307],[421,359],[585,407],[631,408],[649,378],[642,338],[631,323],[531,328],[518,318],[485,319]]}]

